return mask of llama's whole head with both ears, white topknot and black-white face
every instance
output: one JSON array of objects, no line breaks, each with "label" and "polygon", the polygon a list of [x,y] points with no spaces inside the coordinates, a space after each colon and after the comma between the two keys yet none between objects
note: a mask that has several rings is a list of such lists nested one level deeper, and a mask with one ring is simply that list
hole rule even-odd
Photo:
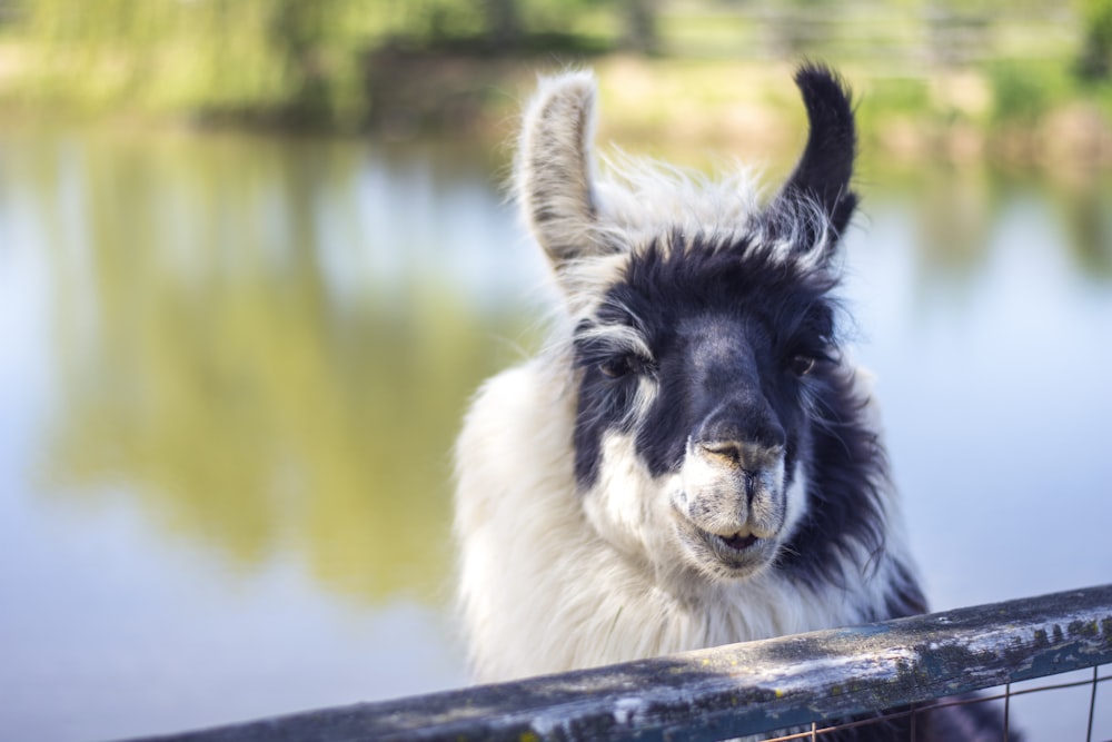
[{"label": "llama's whole head with both ears, white topknot and black-white face", "polygon": [[816,431],[850,384],[830,290],[855,133],[836,77],[808,66],[796,83],[810,138],[763,207],[741,179],[596,179],[588,73],[544,81],[525,117],[516,189],[572,320],[579,496],[658,570],[749,577],[816,517]]}]

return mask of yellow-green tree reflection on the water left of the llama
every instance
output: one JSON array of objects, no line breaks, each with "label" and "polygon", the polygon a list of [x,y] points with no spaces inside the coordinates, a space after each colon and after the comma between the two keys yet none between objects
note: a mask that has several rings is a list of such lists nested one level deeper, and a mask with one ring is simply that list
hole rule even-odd
[{"label": "yellow-green tree reflection on the water left of the llama", "polygon": [[120,488],[235,568],[295,553],[344,593],[439,600],[451,442],[524,320],[480,316],[419,265],[377,270],[394,233],[359,218],[366,149],[18,147],[56,307],[40,486]]}]

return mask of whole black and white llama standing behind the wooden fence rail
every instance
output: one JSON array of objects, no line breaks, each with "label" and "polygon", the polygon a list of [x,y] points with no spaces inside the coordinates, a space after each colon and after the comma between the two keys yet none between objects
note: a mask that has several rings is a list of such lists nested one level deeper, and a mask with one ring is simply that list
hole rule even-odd
[{"label": "whole black and white llama standing behind the wooden fence rail", "polygon": [[[593,76],[542,80],[514,186],[562,306],[457,444],[479,681],[925,610],[868,378],[838,333],[850,95],[821,66],[795,82],[810,136],[762,206],[744,174],[627,158],[596,176]],[[919,739],[991,726],[936,715]]]}]

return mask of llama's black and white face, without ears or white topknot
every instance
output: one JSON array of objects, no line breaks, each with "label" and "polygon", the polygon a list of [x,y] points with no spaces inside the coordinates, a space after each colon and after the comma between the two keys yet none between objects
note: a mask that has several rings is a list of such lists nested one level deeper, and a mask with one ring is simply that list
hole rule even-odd
[{"label": "llama's black and white face, without ears or white topknot", "polygon": [[576,478],[612,543],[737,578],[772,564],[806,509],[832,313],[820,275],[744,239],[699,243],[631,253],[579,323]]}]

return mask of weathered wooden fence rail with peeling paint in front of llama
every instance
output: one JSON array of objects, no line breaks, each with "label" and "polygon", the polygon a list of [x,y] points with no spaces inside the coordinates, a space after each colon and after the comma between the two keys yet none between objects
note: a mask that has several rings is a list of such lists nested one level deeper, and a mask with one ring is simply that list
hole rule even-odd
[{"label": "weathered wooden fence rail with peeling paint in front of llama", "polygon": [[718,740],[1112,662],[1112,585],[157,738]]}]

